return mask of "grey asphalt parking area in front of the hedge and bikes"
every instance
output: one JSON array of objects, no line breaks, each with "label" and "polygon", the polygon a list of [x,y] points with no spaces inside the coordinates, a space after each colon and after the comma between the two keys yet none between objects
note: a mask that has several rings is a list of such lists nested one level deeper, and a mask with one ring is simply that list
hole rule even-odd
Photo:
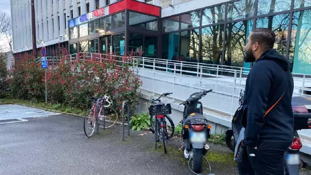
[{"label": "grey asphalt parking area in front of the hedge and bikes", "polygon": [[[19,121],[0,119],[0,174],[191,174],[178,151],[179,138],[169,140],[165,155],[153,148],[153,135],[146,131],[131,131],[122,141],[116,125],[87,138],[82,118],[13,107]],[[0,105],[0,114],[6,111]],[[211,151],[213,173],[237,174],[234,164],[217,160],[232,155],[229,149],[211,145]]]}]

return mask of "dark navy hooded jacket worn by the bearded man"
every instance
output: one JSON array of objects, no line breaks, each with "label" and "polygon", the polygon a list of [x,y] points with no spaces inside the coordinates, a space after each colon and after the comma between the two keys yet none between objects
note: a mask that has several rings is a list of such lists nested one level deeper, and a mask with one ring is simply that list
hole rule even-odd
[{"label": "dark navy hooded jacket worn by the bearded man", "polygon": [[[294,116],[291,101],[294,80],[290,66],[287,59],[272,49],[265,51],[252,67],[246,80],[243,103],[247,115],[247,146],[256,147],[258,140],[293,141]],[[265,115],[272,106],[271,111]]]}]

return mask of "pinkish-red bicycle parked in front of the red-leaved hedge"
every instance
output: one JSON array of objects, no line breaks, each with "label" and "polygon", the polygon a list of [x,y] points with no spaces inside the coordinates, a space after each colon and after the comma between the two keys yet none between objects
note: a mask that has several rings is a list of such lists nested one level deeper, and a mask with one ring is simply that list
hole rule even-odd
[{"label": "pinkish-red bicycle parked in front of the red-leaved hedge", "polygon": [[[90,99],[93,101],[93,105],[90,110],[87,110],[86,115],[84,117],[84,125],[83,125],[84,134],[88,138],[94,135],[97,124],[101,128],[109,128],[115,125],[118,120],[118,113],[116,112],[116,110],[110,107],[110,105],[112,105],[113,102],[110,101],[109,96],[104,95],[103,97],[100,97],[98,99],[95,97],[91,97]],[[104,121],[109,119],[113,120],[112,124],[109,126],[105,126]],[[100,125],[100,121],[103,121],[103,126]],[[88,134],[88,131],[91,131],[91,133]]]}]

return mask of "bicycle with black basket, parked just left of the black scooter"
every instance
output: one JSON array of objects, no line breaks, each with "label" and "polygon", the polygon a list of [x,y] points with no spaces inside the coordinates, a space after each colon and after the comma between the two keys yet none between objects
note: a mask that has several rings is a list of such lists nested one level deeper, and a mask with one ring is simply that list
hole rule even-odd
[{"label": "bicycle with black basket, parked just left of the black scooter", "polygon": [[[164,103],[161,102],[160,98],[162,96],[167,96],[169,94],[172,94],[172,93],[165,93],[165,94],[162,94],[158,99],[155,99],[155,100],[152,99],[151,100],[151,105],[149,107],[150,130],[153,129],[152,117],[156,116],[155,123],[154,123],[154,126],[155,126],[156,129],[153,129],[154,136],[155,136],[155,140],[154,140],[155,147],[157,148],[157,142],[160,142],[160,140],[162,140],[163,141],[163,148],[164,148],[165,154],[167,154],[167,150],[166,150],[167,139],[171,138],[173,136],[173,134],[174,134],[172,132],[170,137],[168,136],[165,118],[169,119],[169,121],[170,121],[171,125],[173,126],[173,128],[174,128],[174,124],[171,121],[170,117],[168,116],[169,114],[172,113],[172,109],[171,109],[170,103],[165,105]],[[173,129],[173,131],[174,131],[174,129]]]}]

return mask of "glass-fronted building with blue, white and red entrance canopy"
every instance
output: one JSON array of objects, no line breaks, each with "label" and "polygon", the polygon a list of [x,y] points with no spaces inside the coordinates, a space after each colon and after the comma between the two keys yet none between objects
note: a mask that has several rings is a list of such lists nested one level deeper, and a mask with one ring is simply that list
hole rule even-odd
[{"label": "glass-fronted building with blue, white and red entrance canopy", "polygon": [[[14,53],[32,47],[30,0],[12,0]],[[15,3],[15,4],[14,4]],[[27,4],[28,3],[28,4]],[[276,33],[292,71],[311,74],[309,0],[35,0],[37,48],[143,56],[250,68],[250,32]],[[57,16],[57,17],[54,17]]]}]

